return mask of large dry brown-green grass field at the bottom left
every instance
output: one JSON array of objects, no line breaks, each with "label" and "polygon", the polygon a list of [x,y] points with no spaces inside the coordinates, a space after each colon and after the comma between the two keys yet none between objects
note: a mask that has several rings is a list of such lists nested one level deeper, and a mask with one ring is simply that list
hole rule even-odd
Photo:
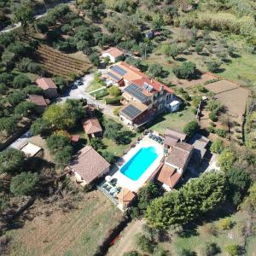
[{"label": "large dry brown-green grass field at the bottom left", "polygon": [[9,231],[11,255],[93,255],[122,218],[100,191],[83,195],[69,212],[44,210],[51,214],[39,214],[21,229]]}]

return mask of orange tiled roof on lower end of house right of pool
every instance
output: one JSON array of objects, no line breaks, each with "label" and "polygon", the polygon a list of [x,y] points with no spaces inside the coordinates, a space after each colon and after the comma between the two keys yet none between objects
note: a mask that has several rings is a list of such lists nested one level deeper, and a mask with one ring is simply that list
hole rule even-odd
[{"label": "orange tiled roof on lower end of house right of pool", "polygon": [[180,177],[181,173],[177,172],[176,168],[173,168],[172,166],[168,166],[166,164],[164,164],[160,168],[160,172],[156,176],[157,180],[160,181],[160,183],[164,183],[172,189],[177,184]]}]

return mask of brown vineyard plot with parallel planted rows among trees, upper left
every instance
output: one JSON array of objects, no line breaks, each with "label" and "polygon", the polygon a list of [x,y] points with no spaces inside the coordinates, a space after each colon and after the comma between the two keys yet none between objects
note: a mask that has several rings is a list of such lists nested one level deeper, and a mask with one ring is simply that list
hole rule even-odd
[{"label": "brown vineyard plot with parallel planted rows among trees, upper left", "polygon": [[49,73],[65,79],[70,79],[73,75],[80,77],[91,67],[89,61],[75,59],[45,44],[38,48],[37,54],[38,61]]}]

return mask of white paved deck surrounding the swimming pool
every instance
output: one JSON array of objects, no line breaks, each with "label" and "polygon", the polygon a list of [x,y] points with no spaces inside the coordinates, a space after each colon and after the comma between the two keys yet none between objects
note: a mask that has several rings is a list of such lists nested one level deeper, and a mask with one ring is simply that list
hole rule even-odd
[{"label": "white paved deck surrounding the swimming pool", "polygon": [[[122,168],[122,166],[124,166],[127,163],[127,161],[129,161],[135,154],[137,154],[138,150],[140,150],[141,148],[148,148],[148,147],[154,147],[156,150],[156,153],[158,154],[158,157],[148,167],[148,169],[145,172],[143,172],[141,177],[139,177],[136,181],[134,181],[131,178],[126,177],[123,173],[120,172],[120,169]],[[129,189],[133,192],[137,192],[137,190],[140,189],[143,186],[143,184],[148,181],[148,178],[150,178],[154,173],[154,171],[160,166],[163,156],[164,156],[163,145],[161,145],[160,143],[156,143],[154,140],[148,137],[143,137],[143,139],[139,143],[137,143],[137,145],[134,148],[131,148],[131,150],[123,156],[122,165],[118,166],[119,170],[115,172],[112,177],[118,180],[118,185],[120,187]]]}]

